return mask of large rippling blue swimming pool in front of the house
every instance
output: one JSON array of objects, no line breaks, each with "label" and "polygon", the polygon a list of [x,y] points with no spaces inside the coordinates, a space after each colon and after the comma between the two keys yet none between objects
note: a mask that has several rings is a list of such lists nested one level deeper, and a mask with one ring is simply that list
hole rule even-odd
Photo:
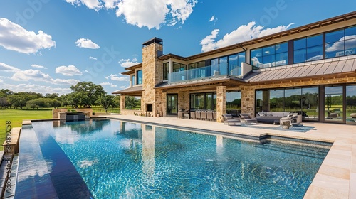
[{"label": "large rippling blue swimming pool in front of the house", "polygon": [[330,149],[110,119],[32,126],[16,198],[303,198]]}]

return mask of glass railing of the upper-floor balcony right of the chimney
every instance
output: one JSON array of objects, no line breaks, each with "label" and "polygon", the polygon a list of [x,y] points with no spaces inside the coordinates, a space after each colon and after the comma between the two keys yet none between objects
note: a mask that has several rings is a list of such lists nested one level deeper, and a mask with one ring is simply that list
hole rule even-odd
[{"label": "glass railing of the upper-floor balcony right of the chimney", "polygon": [[168,74],[168,83],[184,82],[222,75],[234,75],[238,77],[241,75],[241,67],[238,65],[223,63],[219,65],[209,65],[201,68],[172,72]]}]

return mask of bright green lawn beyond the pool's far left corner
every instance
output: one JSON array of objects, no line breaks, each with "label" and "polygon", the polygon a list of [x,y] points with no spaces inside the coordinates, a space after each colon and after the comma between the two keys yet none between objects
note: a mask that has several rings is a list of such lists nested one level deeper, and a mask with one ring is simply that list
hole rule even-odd
[{"label": "bright green lawn beyond the pool's far left corner", "polygon": [[23,119],[51,119],[52,109],[43,110],[19,110],[19,109],[0,109],[0,150],[5,141],[6,121],[11,122],[11,128],[21,127]]}]

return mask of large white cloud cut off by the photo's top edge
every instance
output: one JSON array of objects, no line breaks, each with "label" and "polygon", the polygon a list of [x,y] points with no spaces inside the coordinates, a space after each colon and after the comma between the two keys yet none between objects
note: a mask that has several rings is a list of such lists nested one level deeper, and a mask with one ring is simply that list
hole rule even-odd
[{"label": "large white cloud cut off by the photo's top edge", "polygon": [[74,6],[89,9],[114,9],[116,16],[124,16],[127,23],[137,27],[159,29],[161,24],[174,26],[184,23],[192,14],[197,0],[66,0]]}]

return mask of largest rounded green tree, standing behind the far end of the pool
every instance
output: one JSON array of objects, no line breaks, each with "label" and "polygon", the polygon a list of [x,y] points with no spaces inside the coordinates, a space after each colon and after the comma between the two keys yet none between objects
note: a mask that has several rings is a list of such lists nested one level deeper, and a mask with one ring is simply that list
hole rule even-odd
[{"label": "largest rounded green tree, standing behind the far end of the pool", "polygon": [[[75,94],[74,98],[78,99],[81,106],[90,108],[94,105],[105,91],[101,85],[95,85],[93,82],[78,82],[70,87]],[[78,105],[77,105],[78,107]]]}]

